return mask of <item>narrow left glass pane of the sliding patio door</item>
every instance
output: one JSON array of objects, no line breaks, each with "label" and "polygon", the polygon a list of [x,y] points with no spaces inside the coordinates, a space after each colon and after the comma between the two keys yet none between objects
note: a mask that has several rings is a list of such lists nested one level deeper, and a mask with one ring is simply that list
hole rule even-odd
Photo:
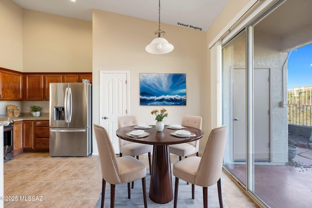
[{"label": "narrow left glass pane of the sliding patio door", "polygon": [[230,129],[224,165],[246,185],[246,32],[222,48],[223,123]]}]

